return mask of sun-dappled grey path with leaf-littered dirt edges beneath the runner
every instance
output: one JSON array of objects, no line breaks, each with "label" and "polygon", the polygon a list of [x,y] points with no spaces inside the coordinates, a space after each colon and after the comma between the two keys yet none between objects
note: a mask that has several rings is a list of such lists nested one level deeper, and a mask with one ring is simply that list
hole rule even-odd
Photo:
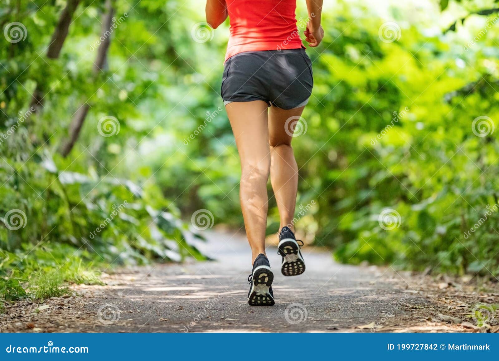
[{"label": "sun-dappled grey path with leaf-littered dirt edges beneath the runner", "polygon": [[[155,265],[104,275],[106,286],[76,286],[78,297],[19,303],[0,315],[4,332],[497,332],[467,317],[499,304],[498,285],[425,277],[333,262],[304,249],[306,272],[283,277],[273,266],[274,307],[247,303],[250,249],[241,234],[207,233],[200,246],[217,261]],[[484,315],[485,312],[484,311]],[[478,320],[480,323],[480,320]]]}]

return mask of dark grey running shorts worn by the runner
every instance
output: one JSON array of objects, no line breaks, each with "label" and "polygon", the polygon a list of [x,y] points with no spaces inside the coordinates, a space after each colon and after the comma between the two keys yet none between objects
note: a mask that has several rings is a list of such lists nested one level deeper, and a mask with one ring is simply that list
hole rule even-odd
[{"label": "dark grey running shorts worn by the runner", "polygon": [[293,109],[312,93],[312,62],[305,49],[245,51],[224,65],[224,104],[263,100],[269,106]]}]

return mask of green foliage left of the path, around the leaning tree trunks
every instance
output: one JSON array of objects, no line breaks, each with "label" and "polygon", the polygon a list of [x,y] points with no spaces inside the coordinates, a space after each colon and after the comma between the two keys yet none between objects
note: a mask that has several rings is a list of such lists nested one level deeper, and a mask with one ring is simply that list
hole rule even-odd
[{"label": "green foliage left of the path, around the leaning tree trunks", "polygon": [[[100,283],[97,270],[109,266],[204,259],[201,237],[172,202],[177,195],[157,185],[142,153],[166,126],[163,100],[176,89],[169,82],[189,60],[176,61],[171,37],[187,25],[165,23],[173,1],[113,5],[108,66],[95,74],[101,1],[80,1],[57,59],[45,53],[65,1],[0,4],[0,274],[33,297],[60,295],[65,283]],[[9,41],[15,32],[4,29],[15,23],[22,39]],[[89,114],[64,158],[69,124],[85,103]],[[104,117],[118,122],[112,136]]]}]

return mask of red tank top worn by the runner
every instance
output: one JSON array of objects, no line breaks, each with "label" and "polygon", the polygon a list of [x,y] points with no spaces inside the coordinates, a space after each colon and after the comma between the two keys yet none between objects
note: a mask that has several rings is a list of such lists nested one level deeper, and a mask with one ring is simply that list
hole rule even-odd
[{"label": "red tank top worn by the runner", "polygon": [[296,0],[226,0],[231,35],[225,60],[243,51],[299,49]]}]

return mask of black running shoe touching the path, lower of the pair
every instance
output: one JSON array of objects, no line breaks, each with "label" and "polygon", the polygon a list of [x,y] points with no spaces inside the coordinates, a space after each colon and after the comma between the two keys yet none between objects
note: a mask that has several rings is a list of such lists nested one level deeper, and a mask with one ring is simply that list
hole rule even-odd
[{"label": "black running shoe touching the path, lower of the pair", "polygon": [[253,271],[248,277],[251,284],[248,293],[250,306],[273,306],[274,293],[272,292],[272,281],[274,274],[270,269],[267,257],[260,253],[253,263]]}]

